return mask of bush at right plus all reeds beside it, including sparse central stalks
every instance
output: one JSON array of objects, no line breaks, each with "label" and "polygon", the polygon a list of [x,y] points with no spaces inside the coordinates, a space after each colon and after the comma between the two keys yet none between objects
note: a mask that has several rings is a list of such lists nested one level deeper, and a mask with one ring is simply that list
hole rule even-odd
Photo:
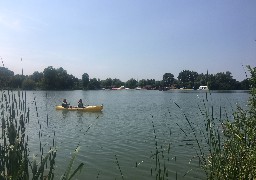
[{"label": "bush at right plus all reeds beside it, including sparse central stalks", "polygon": [[[205,173],[205,179],[256,179],[256,67],[248,66],[248,70],[250,98],[243,107],[237,102],[233,114],[227,113],[226,107],[222,105],[213,106],[210,91],[205,92],[204,98],[200,98],[197,119],[191,119],[187,115],[188,112],[184,112],[183,108],[174,102],[183,114],[185,127],[188,127],[183,129],[177,123],[184,133],[185,146],[195,151],[195,156],[191,158],[193,161],[198,160],[199,167]],[[195,122],[203,123],[204,126]],[[152,124],[156,141],[152,157],[156,163],[153,175],[151,169],[151,175],[155,176],[155,179],[168,179],[170,172],[175,173],[166,165],[166,162],[169,162],[166,157],[169,158],[171,146],[165,144],[168,148],[162,149],[163,146],[157,142],[153,121]],[[174,159],[176,160],[176,156]],[[194,169],[190,169],[188,173],[191,171]],[[172,178],[184,178],[186,175],[177,174],[176,171]]]}]

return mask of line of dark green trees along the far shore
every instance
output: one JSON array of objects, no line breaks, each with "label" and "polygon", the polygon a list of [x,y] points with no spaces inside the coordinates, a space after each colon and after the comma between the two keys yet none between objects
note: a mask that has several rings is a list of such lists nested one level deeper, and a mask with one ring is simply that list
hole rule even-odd
[{"label": "line of dark green trees along the far shore", "polygon": [[190,70],[183,70],[177,79],[172,73],[163,74],[163,79],[136,80],[131,78],[126,82],[120,79],[107,78],[100,80],[90,78],[87,73],[79,79],[72,74],[68,74],[62,67],[53,68],[49,66],[43,72],[35,71],[32,75],[14,74],[6,67],[0,67],[0,88],[1,89],[24,89],[24,90],[99,90],[112,89],[120,86],[134,89],[136,87],[148,90],[166,89],[198,89],[199,86],[208,86],[211,90],[248,90],[249,81],[247,79],[239,82],[233,79],[231,72],[220,72],[217,74],[198,74]]}]

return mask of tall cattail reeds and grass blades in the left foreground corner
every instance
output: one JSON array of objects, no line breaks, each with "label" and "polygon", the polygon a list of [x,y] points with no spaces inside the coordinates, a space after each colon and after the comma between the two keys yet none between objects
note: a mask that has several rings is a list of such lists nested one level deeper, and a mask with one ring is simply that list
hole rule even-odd
[{"label": "tall cattail reeds and grass blades in the left foreground corner", "polygon": [[[36,101],[34,99],[35,106]],[[53,144],[48,152],[44,153],[40,138],[42,126],[39,130],[40,155],[31,155],[29,136],[26,127],[31,121],[30,109],[27,107],[25,91],[1,91],[0,95],[1,129],[0,129],[0,179],[54,179],[55,159],[57,150]],[[36,113],[37,106],[36,106]],[[47,116],[48,126],[48,116]],[[55,136],[55,133],[54,133]],[[71,169],[76,157],[75,151],[62,179],[71,179],[83,166],[81,163],[73,173]],[[38,160],[39,159],[39,160]]]}]

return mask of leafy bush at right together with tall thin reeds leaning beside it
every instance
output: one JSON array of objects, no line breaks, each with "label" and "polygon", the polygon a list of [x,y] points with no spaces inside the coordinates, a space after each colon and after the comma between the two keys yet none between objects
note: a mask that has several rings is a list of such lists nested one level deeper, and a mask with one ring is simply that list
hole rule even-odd
[{"label": "leafy bush at right together with tall thin reeds leaning beside it", "polygon": [[203,106],[199,106],[205,129],[196,129],[184,114],[207,179],[256,179],[256,68],[248,69],[251,96],[246,109],[237,106],[230,118],[223,117],[220,107],[217,116],[206,93]]}]

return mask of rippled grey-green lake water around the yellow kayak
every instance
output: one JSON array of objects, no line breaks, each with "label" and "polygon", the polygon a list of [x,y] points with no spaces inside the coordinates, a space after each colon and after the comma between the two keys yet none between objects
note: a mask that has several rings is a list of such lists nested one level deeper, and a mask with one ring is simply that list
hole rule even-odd
[{"label": "rippled grey-green lake water around the yellow kayak", "polygon": [[[40,154],[40,141],[47,152],[54,138],[56,179],[64,173],[77,146],[75,166],[85,164],[77,179],[155,179],[156,169],[163,171],[164,167],[168,179],[205,179],[186,118],[198,131],[205,129],[204,108],[211,111],[213,107],[218,121],[232,119],[237,104],[247,104],[249,93],[79,90],[27,91],[26,97],[30,155]],[[63,98],[71,105],[81,98],[84,104],[103,104],[104,109],[100,113],[55,110]],[[156,150],[160,152],[157,155]]]}]

